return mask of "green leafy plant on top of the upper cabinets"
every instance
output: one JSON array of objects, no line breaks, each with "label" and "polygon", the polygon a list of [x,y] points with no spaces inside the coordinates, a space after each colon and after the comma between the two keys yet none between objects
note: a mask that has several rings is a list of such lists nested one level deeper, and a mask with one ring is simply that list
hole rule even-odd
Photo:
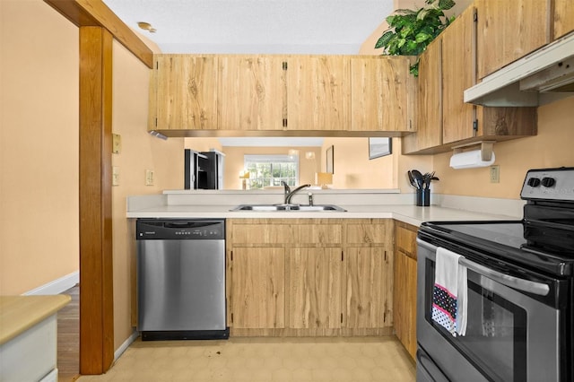
[{"label": "green leafy plant on top of the upper cabinets", "polygon": [[[384,55],[419,56],[455,17],[444,11],[455,6],[454,0],[425,0],[418,11],[397,9],[387,17],[388,30],[378,39],[375,48],[384,48]],[[419,61],[411,66],[411,74],[419,75]]]}]

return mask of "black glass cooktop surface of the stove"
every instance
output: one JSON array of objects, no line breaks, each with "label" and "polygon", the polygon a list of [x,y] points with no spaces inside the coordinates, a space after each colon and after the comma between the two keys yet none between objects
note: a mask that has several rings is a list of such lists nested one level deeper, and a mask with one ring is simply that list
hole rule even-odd
[{"label": "black glass cooktop surface of the stove", "polygon": [[[419,237],[556,275],[574,273],[574,231],[528,221],[429,221]],[[425,239],[426,238],[426,239]]]}]

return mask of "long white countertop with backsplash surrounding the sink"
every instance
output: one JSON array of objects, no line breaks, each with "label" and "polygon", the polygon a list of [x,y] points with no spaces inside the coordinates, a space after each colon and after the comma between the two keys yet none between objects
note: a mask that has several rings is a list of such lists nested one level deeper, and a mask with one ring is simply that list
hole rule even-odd
[{"label": "long white countertop with backsplash surrounding the sink", "polygon": [[[414,205],[414,194],[398,190],[313,190],[314,204],[335,204],[346,212],[231,211],[239,204],[277,204],[283,190],[233,192],[220,190],[170,190],[161,195],[129,196],[127,218],[152,219],[396,219],[414,226],[423,221],[520,220],[522,201],[466,196],[433,195],[431,206]],[[308,194],[295,195],[293,203],[309,204]]]}]

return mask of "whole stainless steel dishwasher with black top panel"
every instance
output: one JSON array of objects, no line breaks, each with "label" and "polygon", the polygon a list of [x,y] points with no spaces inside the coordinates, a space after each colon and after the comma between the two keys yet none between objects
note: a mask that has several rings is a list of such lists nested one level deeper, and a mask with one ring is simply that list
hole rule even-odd
[{"label": "whole stainless steel dishwasher with black top panel", "polygon": [[142,340],[229,338],[225,220],[138,219],[135,231]]}]

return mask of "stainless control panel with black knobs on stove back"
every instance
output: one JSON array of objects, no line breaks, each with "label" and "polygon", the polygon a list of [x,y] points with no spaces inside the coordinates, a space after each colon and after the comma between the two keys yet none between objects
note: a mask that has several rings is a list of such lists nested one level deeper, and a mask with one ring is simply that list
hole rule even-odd
[{"label": "stainless control panel with black knobs on stove back", "polygon": [[520,197],[574,202],[574,168],[528,170]]}]

